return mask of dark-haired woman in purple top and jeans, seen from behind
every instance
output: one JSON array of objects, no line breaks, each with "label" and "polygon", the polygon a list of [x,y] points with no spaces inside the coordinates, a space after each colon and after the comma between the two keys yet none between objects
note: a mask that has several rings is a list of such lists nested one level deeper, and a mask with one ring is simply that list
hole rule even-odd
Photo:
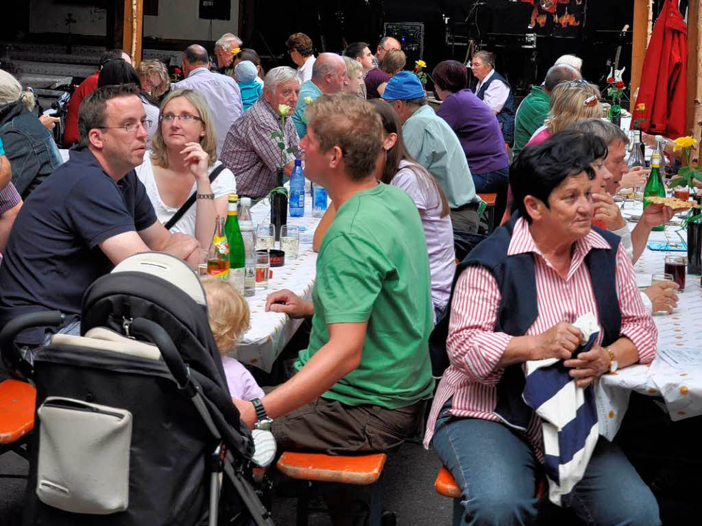
[{"label": "dark-haired woman in purple top and jeans, seen from behind", "polygon": [[495,217],[502,217],[507,199],[510,158],[500,123],[468,86],[468,71],[456,60],[439,62],[432,72],[437,96],[443,101],[436,114],[458,135],[478,194],[497,194]]}]

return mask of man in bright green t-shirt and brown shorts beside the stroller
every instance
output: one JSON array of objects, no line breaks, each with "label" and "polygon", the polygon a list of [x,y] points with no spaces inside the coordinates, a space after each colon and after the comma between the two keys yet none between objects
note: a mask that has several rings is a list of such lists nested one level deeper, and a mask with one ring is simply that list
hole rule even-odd
[{"label": "man in bright green t-shirt and brown shorts beside the stroller", "polygon": [[375,177],[382,125],[353,95],[307,109],[305,176],[327,189],[336,217],[317,258],[312,302],[272,293],[270,311],[312,317],[297,373],[262,401],[236,400],[253,426],[273,419],[282,450],[387,451],[417,430],[434,381],[428,252],[412,199]]}]

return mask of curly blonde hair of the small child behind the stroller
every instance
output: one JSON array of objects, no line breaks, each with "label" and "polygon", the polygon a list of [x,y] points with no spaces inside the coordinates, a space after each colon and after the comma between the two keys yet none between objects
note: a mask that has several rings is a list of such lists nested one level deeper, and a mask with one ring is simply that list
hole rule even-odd
[{"label": "curly blonde hair of the small child behind the stroller", "polygon": [[220,354],[228,353],[234,349],[241,335],[249,330],[249,304],[244,296],[225,281],[206,276],[201,283],[205,290],[207,317],[217,349]]}]

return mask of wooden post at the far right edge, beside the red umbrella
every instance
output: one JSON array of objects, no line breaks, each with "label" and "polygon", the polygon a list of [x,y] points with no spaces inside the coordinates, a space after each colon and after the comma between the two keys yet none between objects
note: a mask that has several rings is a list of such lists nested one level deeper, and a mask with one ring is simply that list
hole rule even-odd
[{"label": "wooden post at the far right edge, beside the red umbrella", "polygon": [[[687,126],[698,141],[702,135],[702,0],[690,0],[687,8]],[[699,148],[691,150],[691,163],[699,163]]]}]

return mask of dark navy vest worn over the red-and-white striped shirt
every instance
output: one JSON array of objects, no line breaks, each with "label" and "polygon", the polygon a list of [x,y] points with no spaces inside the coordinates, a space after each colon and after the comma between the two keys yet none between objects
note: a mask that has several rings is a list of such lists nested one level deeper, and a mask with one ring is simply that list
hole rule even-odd
[{"label": "dark navy vest worn over the red-and-white striped shirt", "polygon": [[[495,332],[523,336],[534,324],[538,316],[534,255],[531,252],[507,255],[515,222],[519,217],[519,213],[512,214],[507,223],[479,243],[458,265],[451,287],[451,299],[432,332],[432,342],[436,343],[442,339],[445,346],[456,281],[467,267],[474,265],[482,265],[488,269],[500,289],[501,302],[497,310]],[[616,295],[616,253],[621,238],[597,227],[592,229],[611,245],[611,249],[607,250],[593,248],[585,256],[585,265],[590,271],[592,290],[595,293],[597,316],[603,330],[602,345],[607,346],[615,342],[621,332],[621,310]],[[522,400],[522,391],[524,391],[522,365],[505,367],[505,372],[497,386],[496,412],[515,415],[510,422],[517,427],[526,427],[532,412]]]}]

